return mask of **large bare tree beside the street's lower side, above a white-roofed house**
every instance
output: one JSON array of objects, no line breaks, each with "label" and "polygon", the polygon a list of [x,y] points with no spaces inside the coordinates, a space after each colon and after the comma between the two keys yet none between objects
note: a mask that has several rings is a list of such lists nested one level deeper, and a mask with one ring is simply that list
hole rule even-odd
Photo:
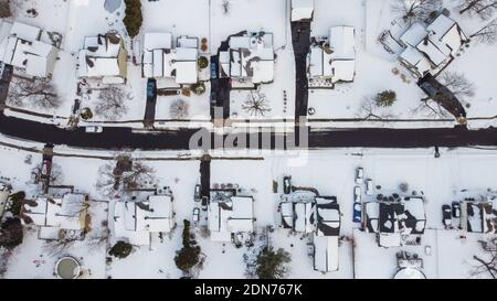
[{"label": "large bare tree beside the street's lower side, above a white-roofed house", "polygon": [[115,165],[107,163],[99,169],[96,189],[105,196],[129,192],[144,187],[155,187],[155,170],[142,162],[135,162],[127,155],[117,158]]}]

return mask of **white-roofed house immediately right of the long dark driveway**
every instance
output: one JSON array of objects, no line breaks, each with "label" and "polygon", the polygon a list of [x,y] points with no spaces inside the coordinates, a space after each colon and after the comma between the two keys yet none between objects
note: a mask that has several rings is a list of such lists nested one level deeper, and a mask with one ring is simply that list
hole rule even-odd
[{"label": "white-roofed house immediately right of the long dark driveway", "polygon": [[309,80],[331,84],[353,82],[356,76],[356,30],[334,26],[328,37],[315,37],[307,57]]}]

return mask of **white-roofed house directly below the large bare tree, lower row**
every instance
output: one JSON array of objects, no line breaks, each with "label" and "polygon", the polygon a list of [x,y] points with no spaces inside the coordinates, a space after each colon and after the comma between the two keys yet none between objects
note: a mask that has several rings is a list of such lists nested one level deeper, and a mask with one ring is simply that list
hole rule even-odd
[{"label": "white-roofed house directly below the large bare tree, lower row", "polygon": [[149,246],[152,235],[170,233],[176,226],[171,195],[149,195],[142,202],[116,202],[114,236],[131,245]]}]

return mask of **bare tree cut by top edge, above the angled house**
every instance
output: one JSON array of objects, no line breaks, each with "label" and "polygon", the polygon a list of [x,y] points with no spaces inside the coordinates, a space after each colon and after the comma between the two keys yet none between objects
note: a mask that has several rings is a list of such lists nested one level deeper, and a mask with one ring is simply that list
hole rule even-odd
[{"label": "bare tree cut by top edge, above the angled house", "polygon": [[405,22],[425,21],[442,9],[442,0],[395,0],[391,9]]}]

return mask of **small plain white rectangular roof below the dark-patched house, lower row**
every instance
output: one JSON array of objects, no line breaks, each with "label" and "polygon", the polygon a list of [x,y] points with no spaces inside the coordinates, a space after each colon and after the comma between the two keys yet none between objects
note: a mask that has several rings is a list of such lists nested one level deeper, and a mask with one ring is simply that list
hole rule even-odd
[{"label": "small plain white rectangular roof below the dark-patched house, lower row", "polygon": [[322,272],[338,270],[338,236],[314,236],[314,269]]}]

